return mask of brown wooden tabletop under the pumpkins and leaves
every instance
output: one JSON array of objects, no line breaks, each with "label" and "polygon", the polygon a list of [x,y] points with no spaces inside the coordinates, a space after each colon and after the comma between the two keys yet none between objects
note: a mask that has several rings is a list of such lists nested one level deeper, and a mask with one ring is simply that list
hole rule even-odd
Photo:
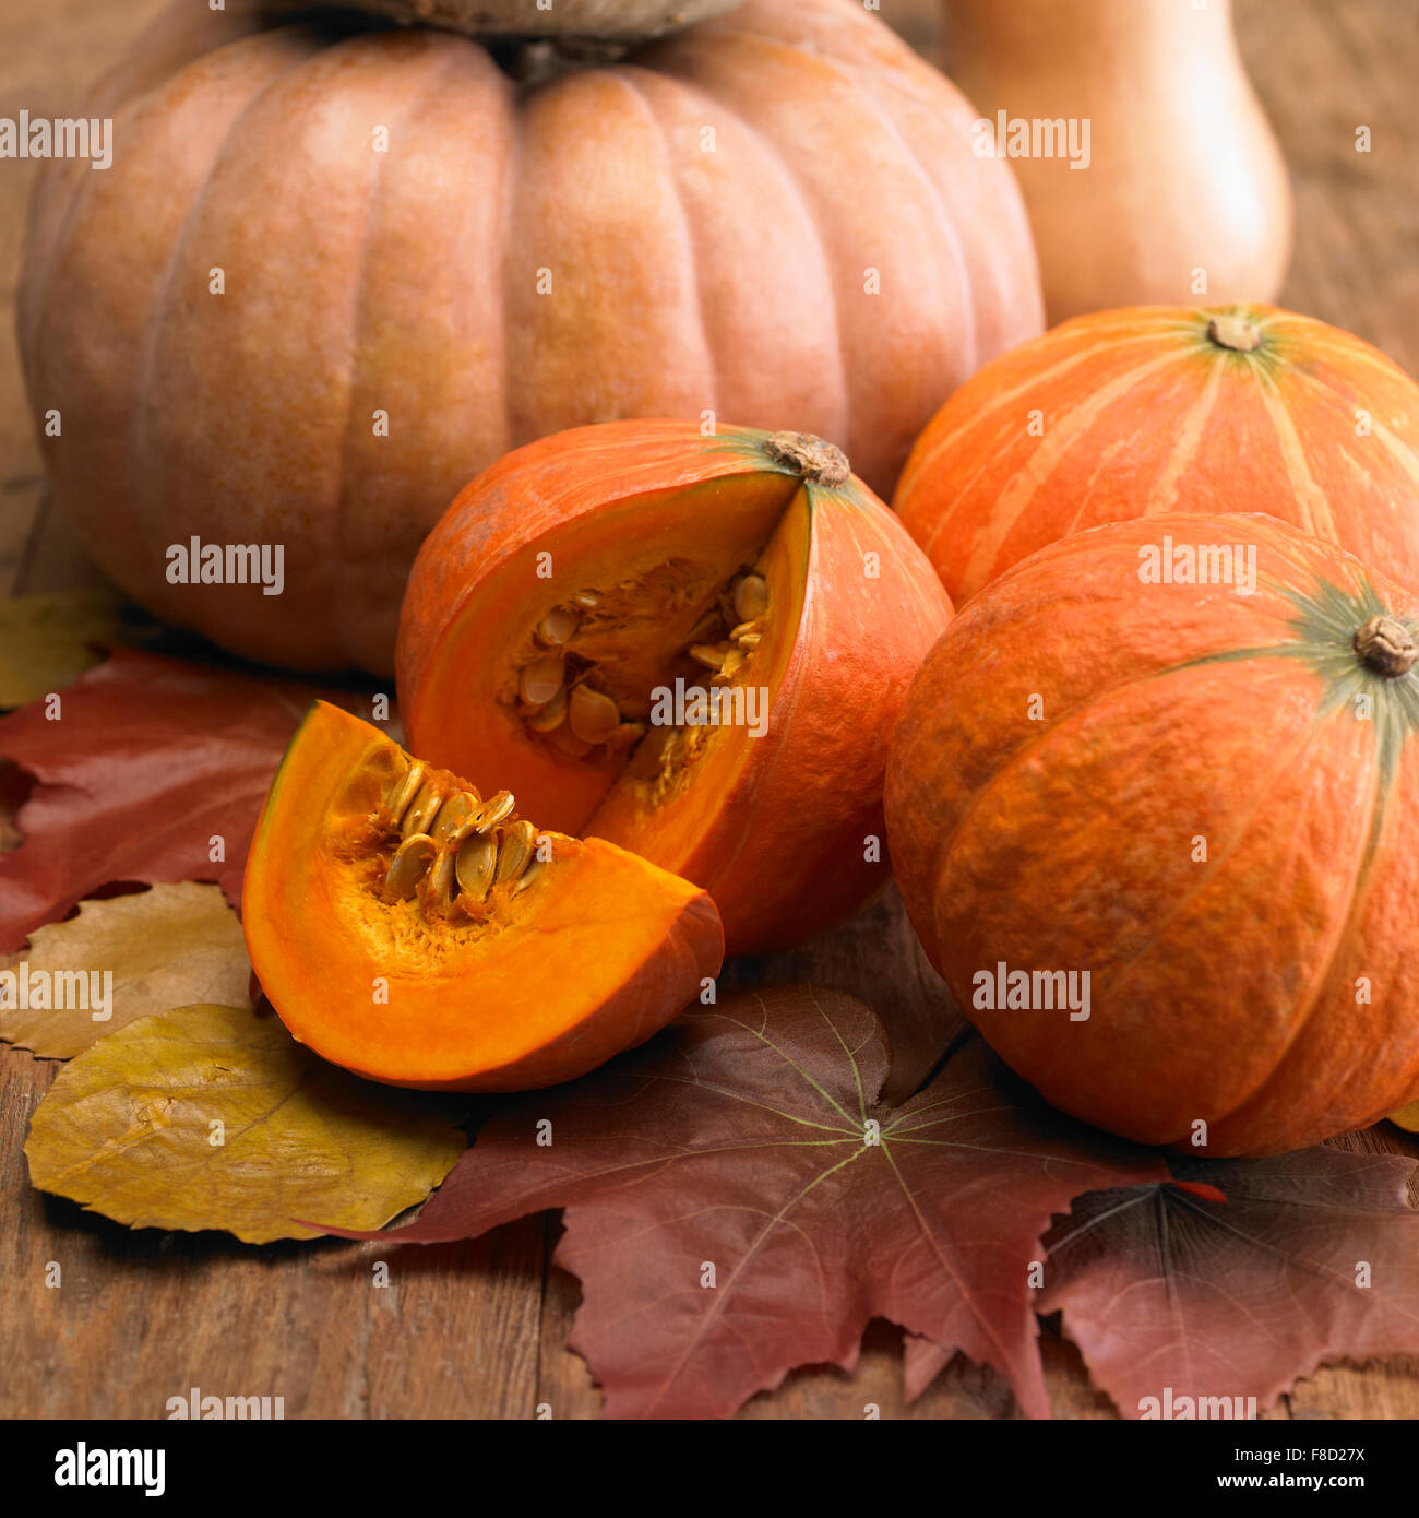
[{"label": "brown wooden tabletop under the pumpkins and leaves", "polygon": [[[196,0],[194,0],[196,3]],[[1146,3],[1146,0],[1138,0]],[[79,88],[161,0],[6,0],[0,115],[71,114]],[[917,46],[941,56],[933,0],[883,0]],[[1238,0],[1243,53],[1278,129],[1298,196],[1285,305],[1346,326],[1419,372],[1419,14],[1413,0]],[[1367,124],[1373,152],[1354,150]],[[15,364],[11,310],[33,165],[0,161],[0,594],[96,583],[46,507]],[[903,967],[909,973],[903,973]],[[903,1009],[939,997],[892,902],[741,979],[812,975]],[[883,991],[883,987],[888,990]],[[56,1066],[0,1053],[0,1416],[162,1416],[190,1387],[272,1395],[297,1416],[595,1416],[598,1394],[565,1345],[577,1283],[548,1266],[558,1224],[528,1219],[467,1245],[246,1248],[225,1236],[129,1233],[29,1189],[21,1146]],[[1352,1140],[1387,1143],[1384,1132]],[[390,1284],[372,1286],[372,1261]],[[62,1286],[46,1286],[49,1261]],[[1071,1345],[1046,1327],[1056,1416],[1109,1418]],[[900,1333],[876,1324],[854,1375],[798,1372],[747,1418],[1012,1418],[991,1372],[961,1362],[911,1409]],[[1270,1416],[1419,1418],[1419,1360],[1336,1366],[1301,1381]]]}]

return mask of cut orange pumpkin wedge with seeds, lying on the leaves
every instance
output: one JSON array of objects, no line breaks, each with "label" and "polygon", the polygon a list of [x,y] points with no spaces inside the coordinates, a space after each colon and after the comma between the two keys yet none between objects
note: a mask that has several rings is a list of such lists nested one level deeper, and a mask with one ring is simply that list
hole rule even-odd
[{"label": "cut orange pumpkin wedge with seeds, lying on the leaves", "polygon": [[715,903],[601,839],[537,829],[319,701],[272,782],[243,926],[267,1000],[390,1085],[510,1091],[665,1026],[724,955]]}]

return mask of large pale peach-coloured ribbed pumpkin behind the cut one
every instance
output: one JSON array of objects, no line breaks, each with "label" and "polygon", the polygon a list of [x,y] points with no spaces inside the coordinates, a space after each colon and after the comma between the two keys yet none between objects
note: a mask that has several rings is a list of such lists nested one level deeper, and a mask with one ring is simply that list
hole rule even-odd
[{"label": "large pale peach-coloured ribbed pumpkin behind the cut one", "polygon": [[[56,498],[135,597],[276,663],[389,671],[423,534],[513,446],[715,411],[886,493],[1043,325],[1008,165],[854,0],[536,88],[449,32],[181,0],[90,112],[112,167],[47,165],[18,296]],[[191,534],[282,543],[285,594],[170,584]]]}]

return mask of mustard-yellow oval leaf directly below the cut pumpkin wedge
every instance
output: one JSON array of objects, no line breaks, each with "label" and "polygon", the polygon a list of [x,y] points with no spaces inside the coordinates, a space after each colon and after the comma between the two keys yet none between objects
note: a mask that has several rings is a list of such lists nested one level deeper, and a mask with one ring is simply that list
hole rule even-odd
[{"label": "mustard-yellow oval leaf directly below the cut pumpkin wedge", "polygon": [[311,1239],[294,1219],[376,1228],[422,1202],[463,1149],[445,1107],[325,1064],[275,1017],[179,1006],[76,1055],[24,1154],[39,1190],[134,1228]]}]

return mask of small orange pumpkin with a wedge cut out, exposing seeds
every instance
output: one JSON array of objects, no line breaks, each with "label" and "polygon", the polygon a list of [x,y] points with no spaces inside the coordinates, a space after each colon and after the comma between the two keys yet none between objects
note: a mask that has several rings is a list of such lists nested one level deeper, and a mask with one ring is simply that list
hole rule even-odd
[{"label": "small orange pumpkin with a wedge cut out, exposing seeds", "polygon": [[744,953],[886,883],[888,735],[949,618],[836,448],[606,422],[510,454],[429,534],[399,709],[434,764],[709,890]]}]

